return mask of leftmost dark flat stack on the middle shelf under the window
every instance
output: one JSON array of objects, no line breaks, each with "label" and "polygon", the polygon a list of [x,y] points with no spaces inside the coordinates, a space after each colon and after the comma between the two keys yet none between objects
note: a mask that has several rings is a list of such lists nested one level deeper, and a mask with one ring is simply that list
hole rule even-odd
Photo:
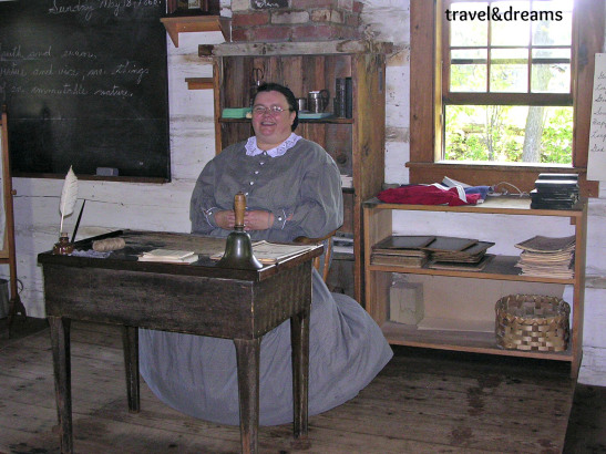
[{"label": "leftmost dark flat stack on the middle shelf under the window", "polygon": [[434,236],[390,236],[372,247],[372,265],[422,268],[429,254],[423,248],[435,239]]}]

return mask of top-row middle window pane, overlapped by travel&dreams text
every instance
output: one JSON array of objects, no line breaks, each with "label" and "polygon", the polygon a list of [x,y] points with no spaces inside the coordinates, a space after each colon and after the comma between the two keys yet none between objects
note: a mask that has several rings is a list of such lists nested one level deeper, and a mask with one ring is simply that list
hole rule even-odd
[{"label": "top-row middle window pane, overlapped by travel&dreams text", "polygon": [[[530,1],[495,1],[492,3],[493,11],[501,14],[530,11]],[[492,45],[528,45],[531,38],[531,22],[523,20],[492,20],[491,21]]]}]

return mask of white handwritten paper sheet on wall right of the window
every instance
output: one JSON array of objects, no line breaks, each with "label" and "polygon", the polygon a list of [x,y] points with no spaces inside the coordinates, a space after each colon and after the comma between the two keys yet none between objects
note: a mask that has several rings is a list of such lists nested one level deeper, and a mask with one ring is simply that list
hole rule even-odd
[{"label": "white handwritten paper sheet on wall right of the window", "polygon": [[587,179],[606,179],[606,54],[595,58]]}]

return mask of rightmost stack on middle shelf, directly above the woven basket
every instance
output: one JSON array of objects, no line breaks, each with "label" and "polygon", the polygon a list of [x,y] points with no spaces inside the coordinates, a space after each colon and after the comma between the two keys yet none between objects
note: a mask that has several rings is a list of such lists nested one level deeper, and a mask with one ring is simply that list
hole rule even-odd
[{"label": "rightmost stack on middle shelf, directly above the woven basket", "polygon": [[535,236],[515,245],[522,249],[516,267],[521,275],[574,278],[575,236],[552,238]]}]

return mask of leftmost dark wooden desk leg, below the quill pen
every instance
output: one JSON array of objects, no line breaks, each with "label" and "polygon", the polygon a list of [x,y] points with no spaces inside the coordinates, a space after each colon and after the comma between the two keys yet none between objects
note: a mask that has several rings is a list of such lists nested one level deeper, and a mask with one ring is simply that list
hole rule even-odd
[{"label": "leftmost dark wooden desk leg, below the quill pen", "polygon": [[70,319],[49,317],[61,452],[73,452]]}]

